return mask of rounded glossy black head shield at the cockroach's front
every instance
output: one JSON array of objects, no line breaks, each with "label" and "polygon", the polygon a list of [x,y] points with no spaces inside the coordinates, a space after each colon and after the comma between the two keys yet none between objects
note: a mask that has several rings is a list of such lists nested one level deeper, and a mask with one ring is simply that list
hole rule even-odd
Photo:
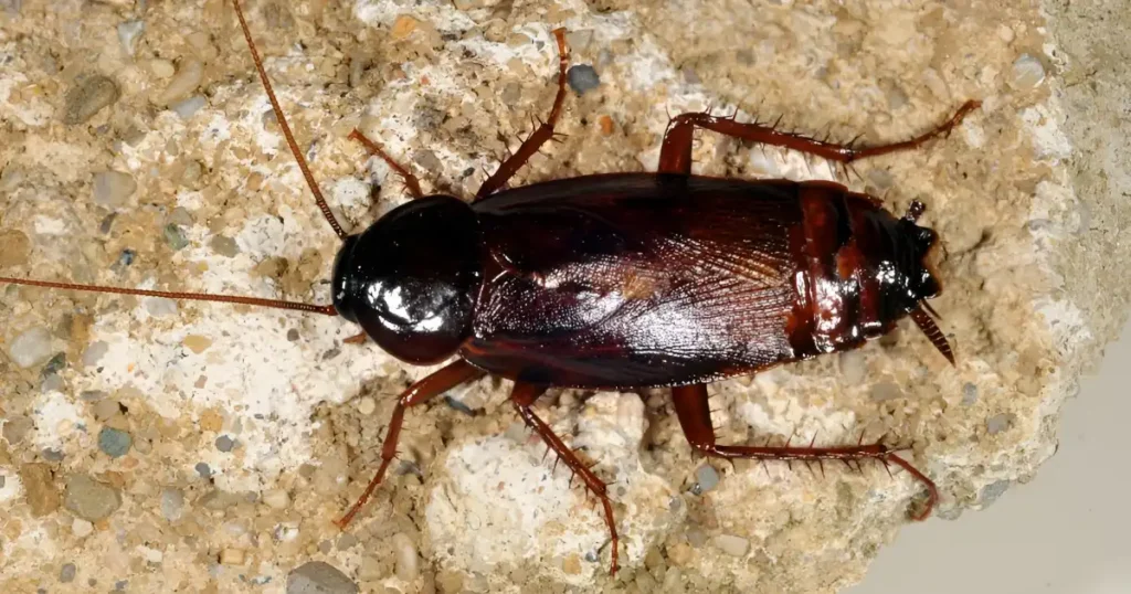
[{"label": "rounded glossy black head shield at the cockroach's front", "polygon": [[387,353],[439,363],[470,335],[482,275],[475,213],[458,198],[407,203],[345,240],[334,307]]}]

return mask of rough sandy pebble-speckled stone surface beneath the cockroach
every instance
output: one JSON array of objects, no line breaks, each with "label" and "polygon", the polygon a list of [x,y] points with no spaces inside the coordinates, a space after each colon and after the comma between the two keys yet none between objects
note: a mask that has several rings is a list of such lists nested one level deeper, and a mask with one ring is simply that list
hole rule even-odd
[{"label": "rough sandy pebble-speckled stone surface beneath the cockroach", "polygon": [[[0,5],[0,275],[328,301],[336,238],[231,6]],[[905,326],[713,401],[720,440],[914,440],[955,517],[1052,455],[1060,404],[1125,317],[1126,287],[1088,256],[1131,251],[1124,180],[1073,164],[1089,137],[1062,127],[1080,98],[1061,91],[1087,76],[1026,2],[754,5],[307,0],[248,16],[349,226],[405,199],[354,127],[425,191],[469,197],[549,110],[556,26],[601,85],[569,94],[568,138],[518,183],[653,170],[668,113],[707,105],[870,143],[982,100],[949,138],[851,180],[896,212],[929,205],[933,304],[959,364]],[[713,135],[694,155],[703,173],[834,179]],[[402,463],[343,533],[331,520],[374,468],[392,397],[428,370],[343,344],[355,329],[318,316],[3,286],[0,317],[5,592],[301,592],[329,579],[312,561],[340,571],[333,592],[831,592],[921,496],[878,467],[743,463],[700,493],[666,394],[555,390],[539,414],[616,481],[610,579],[599,516],[541,460],[509,385],[485,379],[408,414]]]}]

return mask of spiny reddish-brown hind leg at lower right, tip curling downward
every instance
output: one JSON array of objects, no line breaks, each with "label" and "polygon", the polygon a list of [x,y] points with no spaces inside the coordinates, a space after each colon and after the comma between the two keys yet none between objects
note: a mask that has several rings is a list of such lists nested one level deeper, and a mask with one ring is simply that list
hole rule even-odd
[{"label": "spiny reddish-brown hind leg at lower right, tip curling downward", "polygon": [[913,516],[914,519],[926,519],[931,515],[934,503],[939,500],[939,490],[935,488],[934,482],[881,442],[857,444],[855,446],[834,448],[814,448],[812,445],[808,447],[720,446],[715,442],[715,428],[710,420],[706,385],[698,384],[672,388],[672,403],[675,405],[675,414],[680,420],[680,427],[683,428],[683,434],[688,438],[688,442],[691,444],[691,447],[707,456],[758,460],[797,460],[804,463],[841,460],[849,467],[852,467],[852,462],[854,460],[858,464],[863,459],[874,459],[884,466],[895,464],[904,468],[926,487],[926,506],[922,513]]}]

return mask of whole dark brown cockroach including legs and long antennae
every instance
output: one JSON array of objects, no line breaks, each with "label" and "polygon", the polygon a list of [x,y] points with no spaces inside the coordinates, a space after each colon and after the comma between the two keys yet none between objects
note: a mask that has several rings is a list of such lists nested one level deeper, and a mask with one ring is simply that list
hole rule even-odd
[{"label": "whole dark brown cockroach including legs and long antennae", "polygon": [[381,465],[345,526],[381,482],[405,410],[484,375],[513,381],[523,417],[604,508],[618,567],[613,508],[603,483],[532,405],[549,387],[637,390],[671,387],[691,446],[708,456],[759,460],[874,459],[918,480],[930,514],[934,483],[881,441],[843,447],[731,446],[715,441],[707,384],[779,363],[855,348],[910,316],[947,360],[953,355],[925,300],[940,291],[926,264],[935,233],[879,200],[831,182],[739,180],[691,174],[696,128],[783,146],[840,164],[915,148],[948,132],[970,101],[934,130],[901,143],[854,148],[708,113],[672,119],[657,173],[586,175],[520,188],[506,183],[554,136],[566,97],[568,50],[546,122],[500,164],[468,204],[423,196],[416,178],[354,131],[415,200],[359,234],[335,221],[271,91],[238,1],[233,1],[271,106],[318,207],[342,239],[333,305],[204,293],[140,291],[0,277],[67,290],[226,301],[342,316],[412,364],[455,359],[397,401]]}]

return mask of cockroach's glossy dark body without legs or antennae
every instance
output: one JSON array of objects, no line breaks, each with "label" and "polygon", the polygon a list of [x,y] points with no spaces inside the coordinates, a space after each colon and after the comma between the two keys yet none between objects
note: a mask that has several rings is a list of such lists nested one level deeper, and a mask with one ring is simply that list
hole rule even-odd
[{"label": "cockroach's glossy dark body without legs or antennae", "polygon": [[592,175],[390,212],[346,240],[334,307],[411,363],[684,386],[886,334],[939,292],[934,241],[832,183]]}]

